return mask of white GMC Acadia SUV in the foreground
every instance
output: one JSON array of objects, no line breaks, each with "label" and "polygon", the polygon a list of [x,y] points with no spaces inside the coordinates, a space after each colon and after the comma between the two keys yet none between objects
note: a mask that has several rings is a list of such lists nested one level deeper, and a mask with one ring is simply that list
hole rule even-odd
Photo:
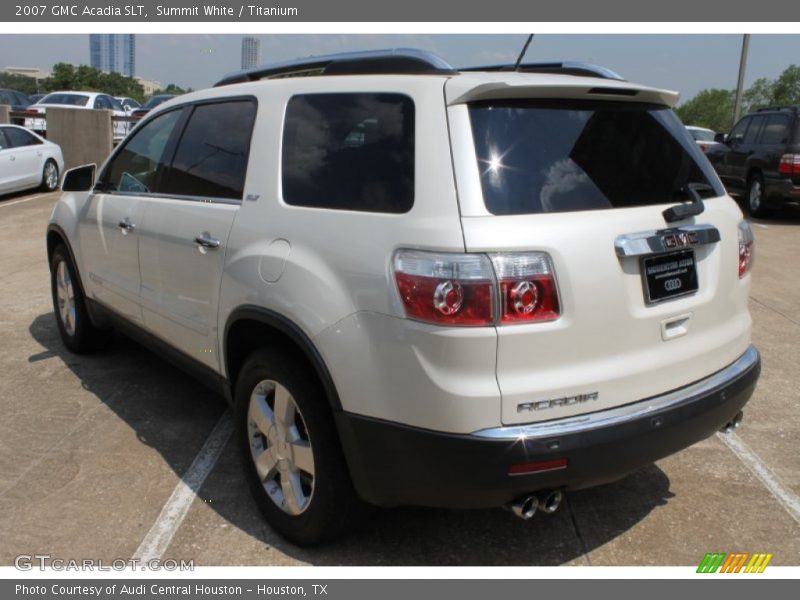
[{"label": "white GMC Acadia SUV in the foreground", "polygon": [[239,73],[70,171],[64,343],[219,389],[270,524],[551,512],[741,419],[753,238],[670,110],[588,65],[394,50]]}]

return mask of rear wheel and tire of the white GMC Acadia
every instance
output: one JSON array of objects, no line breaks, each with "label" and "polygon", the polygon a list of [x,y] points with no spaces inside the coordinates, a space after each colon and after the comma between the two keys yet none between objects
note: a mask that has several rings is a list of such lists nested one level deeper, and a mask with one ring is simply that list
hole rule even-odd
[{"label": "rear wheel and tire of the white GMC Acadia", "polygon": [[241,369],[235,396],[253,497],[272,528],[302,546],[344,534],[363,508],[325,393],[309,371],[291,354],[257,350]]}]

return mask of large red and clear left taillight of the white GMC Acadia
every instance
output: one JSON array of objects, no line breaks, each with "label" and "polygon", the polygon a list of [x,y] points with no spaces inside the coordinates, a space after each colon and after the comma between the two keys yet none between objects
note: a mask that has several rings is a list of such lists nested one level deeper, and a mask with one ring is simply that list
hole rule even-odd
[{"label": "large red and clear left taillight of the white GMC Acadia", "polygon": [[486,326],[559,315],[550,258],[541,252],[487,256],[400,250],[394,276],[406,316],[418,321]]}]

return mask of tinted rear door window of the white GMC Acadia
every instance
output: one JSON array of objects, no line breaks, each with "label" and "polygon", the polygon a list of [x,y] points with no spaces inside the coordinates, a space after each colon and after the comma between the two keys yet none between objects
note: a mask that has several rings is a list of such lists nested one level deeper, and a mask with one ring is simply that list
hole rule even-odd
[{"label": "tinted rear door window of the white GMC Acadia", "polygon": [[241,200],[255,118],[253,100],[196,106],[160,191]]}]

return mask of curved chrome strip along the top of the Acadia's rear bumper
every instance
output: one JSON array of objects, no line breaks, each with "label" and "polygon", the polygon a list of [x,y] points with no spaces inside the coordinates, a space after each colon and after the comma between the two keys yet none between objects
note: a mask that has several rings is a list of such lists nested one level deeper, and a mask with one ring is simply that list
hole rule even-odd
[{"label": "curved chrome strip along the top of the Acadia's rear bumper", "polygon": [[555,421],[481,429],[471,435],[477,438],[511,442],[571,435],[593,429],[621,425],[646,417],[656,411],[672,408],[687,401],[691,402],[691,399],[696,396],[710,394],[726,383],[741,377],[752,369],[758,363],[758,360],[758,350],[755,349],[755,346],[750,346],[734,363],[721,371],[679,390],[668,392],[663,396],[655,396],[633,404]]}]

